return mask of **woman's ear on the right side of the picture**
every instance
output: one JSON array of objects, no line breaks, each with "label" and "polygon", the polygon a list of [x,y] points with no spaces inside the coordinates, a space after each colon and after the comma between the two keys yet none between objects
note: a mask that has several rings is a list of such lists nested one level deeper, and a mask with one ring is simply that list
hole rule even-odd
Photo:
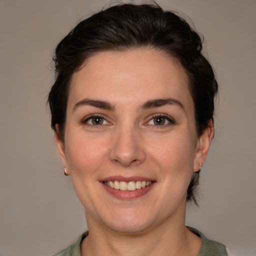
[{"label": "woman's ear on the right side of the picture", "polygon": [[[210,142],[214,135],[214,129],[213,129],[213,123],[210,119],[208,121],[208,126],[203,132],[203,134],[198,138],[197,141],[197,149],[194,155],[194,166],[193,171],[196,172],[200,169],[201,166],[203,166],[206,156],[209,151]],[[201,164],[201,165],[200,165]]]}]

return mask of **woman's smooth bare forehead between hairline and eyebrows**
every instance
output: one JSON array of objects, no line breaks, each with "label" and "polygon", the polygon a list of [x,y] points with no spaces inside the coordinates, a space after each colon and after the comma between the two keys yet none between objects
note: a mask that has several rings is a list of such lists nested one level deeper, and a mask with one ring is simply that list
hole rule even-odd
[{"label": "woman's smooth bare forehead between hairline and eyebrows", "polygon": [[68,105],[84,97],[117,103],[173,97],[191,103],[182,66],[159,50],[136,49],[94,54],[73,74]]}]

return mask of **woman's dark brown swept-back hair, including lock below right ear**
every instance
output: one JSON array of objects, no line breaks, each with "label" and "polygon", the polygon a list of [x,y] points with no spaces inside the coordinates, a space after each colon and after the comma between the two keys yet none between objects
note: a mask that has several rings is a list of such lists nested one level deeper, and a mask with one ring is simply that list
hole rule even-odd
[{"label": "woman's dark brown swept-back hair, including lock below right ear", "polygon": [[[57,45],[55,82],[48,94],[51,127],[64,141],[66,106],[71,77],[88,57],[101,51],[149,48],[161,50],[183,67],[195,109],[195,127],[200,136],[213,121],[214,96],[218,84],[213,69],[202,55],[202,40],[189,24],[173,11],[152,4],[118,4],[79,22]],[[56,124],[58,129],[56,130]],[[186,200],[196,204],[194,172]]]}]

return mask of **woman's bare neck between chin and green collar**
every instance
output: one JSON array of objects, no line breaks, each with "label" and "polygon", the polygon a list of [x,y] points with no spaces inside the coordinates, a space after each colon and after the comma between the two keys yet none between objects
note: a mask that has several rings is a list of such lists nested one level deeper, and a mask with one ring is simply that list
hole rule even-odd
[{"label": "woman's bare neck between chin and green collar", "polygon": [[[196,256],[201,239],[184,225],[185,216],[165,220],[156,227],[137,234],[119,233],[87,219],[89,235],[81,244],[82,256]],[[91,226],[91,228],[90,228]]]}]

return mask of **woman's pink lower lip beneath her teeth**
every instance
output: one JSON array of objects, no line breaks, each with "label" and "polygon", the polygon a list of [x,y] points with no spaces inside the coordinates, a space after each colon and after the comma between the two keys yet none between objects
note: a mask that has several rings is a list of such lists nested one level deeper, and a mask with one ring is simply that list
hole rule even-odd
[{"label": "woman's pink lower lip beneath her teeth", "polygon": [[105,185],[103,182],[101,182],[101,184],[103,185],[103,187],[106,189],[106,191],[108,193],[110,193],[111,195],[115,196],[118,199],[135,199],[138,198],[144,194],[146,194],[155,184],[155,182],[152,182],[151,185],[149,186],[145,186],[142,187],[140,189],[135,189],[135,190],[119,190],[119,189],[115,189],[115,188],[111,188],[107,185]]}]

